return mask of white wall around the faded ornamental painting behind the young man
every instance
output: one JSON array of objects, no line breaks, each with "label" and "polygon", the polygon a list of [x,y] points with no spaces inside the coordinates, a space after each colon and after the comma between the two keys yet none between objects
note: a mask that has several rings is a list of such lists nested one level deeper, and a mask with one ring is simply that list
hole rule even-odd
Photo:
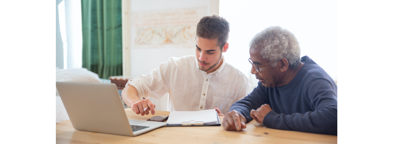
[{"label": "white wall around the faded ornamental painting behind the young man", "polygon": [[[130,2],[131,12],[168,10],[175,8],[194,8],[207,6],[209,11],[209,0],[132,0]],[[209,14],[207,14],[209,15]],[[133,29],[132,29],[133,33]],[[162,62],[167,62],[169,57],[182,57],[195,55],[195,43],[189,48],[153,48],[135,49],[134,35],[131,35],[131,76],[149,74],[151,70],[158,68]]]}]

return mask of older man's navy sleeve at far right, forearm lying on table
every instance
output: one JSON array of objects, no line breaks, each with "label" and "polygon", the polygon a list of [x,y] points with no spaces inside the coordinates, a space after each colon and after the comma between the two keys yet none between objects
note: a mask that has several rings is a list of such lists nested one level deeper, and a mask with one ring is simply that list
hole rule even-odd
[{"label": "older man's navy sleeve at far right, forearm lying on table", "polygon": [[[316,79],[304,90],[314,111],[284,115],[269,112],[263,125],[281,130],[295,130],[319,134],[338,135],[338,96],[335,83],[326,79]],[[334,90],[335,89],[335,90]]]}]

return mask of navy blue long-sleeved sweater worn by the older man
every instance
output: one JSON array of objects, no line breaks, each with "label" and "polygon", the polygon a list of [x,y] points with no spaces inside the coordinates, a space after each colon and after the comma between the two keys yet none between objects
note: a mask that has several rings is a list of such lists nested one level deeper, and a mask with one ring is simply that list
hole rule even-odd
[{"label": "navy blue long-sleeved sweater worn by the older man", "polygon": [[308,56],[301,62],[305,64],[287,85],[266,88],[258,82],[257,88],[234,103],[230,111],[238,111],[249,122],[253,120],[251,109],[269,104],[273,111],[263,119],[268,128],[338,135],[337,85]]}]

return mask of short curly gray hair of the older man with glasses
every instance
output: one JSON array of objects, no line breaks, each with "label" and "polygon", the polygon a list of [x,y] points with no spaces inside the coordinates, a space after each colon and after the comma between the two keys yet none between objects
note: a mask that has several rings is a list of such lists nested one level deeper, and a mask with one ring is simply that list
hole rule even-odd
[{"label": "short curly gray hair of the older man with glasses", "polygon": [[286,58],[292,68],[300,63],[300,48],[294,34],[280,26],[271,26],[257,33],[249,42],[249,48],[255,49],[261,46],[263,59],[270,61],[271,66],[276,68],[279,59]]}]

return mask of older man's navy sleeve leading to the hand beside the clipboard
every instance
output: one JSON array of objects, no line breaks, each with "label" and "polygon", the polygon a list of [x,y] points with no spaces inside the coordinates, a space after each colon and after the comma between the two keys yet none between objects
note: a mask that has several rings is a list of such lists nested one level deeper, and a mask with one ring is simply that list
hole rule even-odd
[{"label": "older man's navy sleeve leading to the hand beside the clipboard", "polygon": [[245,119],[247,119],[247,122],[249,122],[253,120],[251,117],[251,110],[256,110],[264,104],[270,105],[269,96],[266,95],[262,84],[258,82],[258,86],[254,88],[251,93],[231,105],[230,111],[236,110],[238,113],[243,115]]}]

